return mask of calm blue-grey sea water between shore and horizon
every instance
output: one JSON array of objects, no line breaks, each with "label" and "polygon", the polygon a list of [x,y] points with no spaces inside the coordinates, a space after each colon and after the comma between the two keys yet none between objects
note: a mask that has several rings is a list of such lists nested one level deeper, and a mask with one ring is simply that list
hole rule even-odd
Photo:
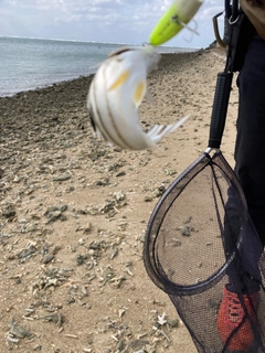
[{"label": "calm blue-grey sea water between shore and horizon", "polygon": [[[88,76],[126,44],[0,36],[0,96]],[[194,49],[158,47],[161,53]]]}]

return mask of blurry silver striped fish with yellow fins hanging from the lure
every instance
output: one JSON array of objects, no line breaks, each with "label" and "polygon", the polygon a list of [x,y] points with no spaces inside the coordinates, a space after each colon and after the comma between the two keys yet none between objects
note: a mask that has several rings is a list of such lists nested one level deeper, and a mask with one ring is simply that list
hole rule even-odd
[{"label": "blurry silver striped fish with yellow fins hanging from the lure", "polygon": [[153,46],[123,47],[99,66],[87,97],[91,122],[97,137],[131,150],[153,147],[174,131],[188,117],[168,126],[141,128],[138,108],[147,94],[147,75],[158,66]]}]

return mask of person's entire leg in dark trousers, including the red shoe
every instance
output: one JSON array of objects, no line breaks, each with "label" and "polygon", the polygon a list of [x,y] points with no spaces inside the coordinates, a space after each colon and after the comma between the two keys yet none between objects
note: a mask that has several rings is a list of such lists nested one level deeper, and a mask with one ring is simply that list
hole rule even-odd
[{"label": "person's entire leg in dark trousers, including the red shoe", "polygon": [[[250,43],[237,85],[235,173],[258,237],[265,245],[265,41],[257,35]],[[243,226],[241,231],[233,222],[235,202],[233,195],[229,195],[224,247],[227,258],[232,252],[236,252],[236,256],[226,270],[229,284],[219,308],[218,329],[230,351],[255,352],[253,346],[261,342],[256,310],[263,246],[252,226]],[[237,247],[233,238],[237,239],[239,232],[243,232],[243,242]]]}]

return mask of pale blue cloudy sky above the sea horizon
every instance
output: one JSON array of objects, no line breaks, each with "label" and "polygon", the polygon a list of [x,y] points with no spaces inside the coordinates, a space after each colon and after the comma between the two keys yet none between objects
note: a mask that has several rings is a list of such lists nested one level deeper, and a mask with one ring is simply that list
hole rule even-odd
[{"label": "pale blue cloudy sky above the sea horizon", "polygon": [[[172,0],[0,0],[0,35],[113,43],[148,42]],[[167,45],[205,47],[223,0],[204,0],[195,15],[200,35],[181,31]],[[194,23],[191,23],[191,26]]]}]

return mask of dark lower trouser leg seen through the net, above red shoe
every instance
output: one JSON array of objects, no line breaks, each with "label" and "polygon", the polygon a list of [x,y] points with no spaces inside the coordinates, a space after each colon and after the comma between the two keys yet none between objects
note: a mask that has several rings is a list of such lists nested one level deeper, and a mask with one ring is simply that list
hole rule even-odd
[{"label": "dark lower trouser leg seen through the net, above red shoe", "polygon": [[245,205],[233,186],[229,189],[225,205],[223,245],[229,264],[226,288],[236,293],[252,295],[259,291],[262,278],[258,260],[263,246]]}]

